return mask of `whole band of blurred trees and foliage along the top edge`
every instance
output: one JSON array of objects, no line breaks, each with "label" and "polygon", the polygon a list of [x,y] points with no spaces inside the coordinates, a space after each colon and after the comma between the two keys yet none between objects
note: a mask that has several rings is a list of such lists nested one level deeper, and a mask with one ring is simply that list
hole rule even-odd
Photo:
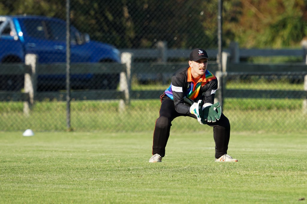
[{"label": "whole band of blurred trees and foliage along the top edge", "polygon": [[[93,40],[118,48],[217,47],[217,1],[74,0],[71,22]],[[175,6],[176,5],[176,6]],[[298,47],[307,35],[303,0],[224,0],[223,41],[240,47]],[[0,13],[65,19],[65,1],[0,1]]]}]

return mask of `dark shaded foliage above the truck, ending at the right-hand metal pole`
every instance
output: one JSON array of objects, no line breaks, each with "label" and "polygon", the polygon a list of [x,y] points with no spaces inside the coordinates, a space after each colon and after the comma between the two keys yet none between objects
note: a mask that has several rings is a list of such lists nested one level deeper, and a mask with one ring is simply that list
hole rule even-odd
[{"label": "dark shaded foliage above the truck, ending at the right-hand metal pole", "polygon": [[[71,1],[71,22],[93,40],[118,48],[155,47],[166,41],[171,48],[216,47],[216,3],[207,1],[206,11],[195,1]],[[203,3],[204,4],[204,3]],[[65,1],[17,0],[3,4],[4,14],[45,15],[65,19]],[[208,21],[210,24],[204,24]],[[192,29],[189,26],[193,27]]]}]

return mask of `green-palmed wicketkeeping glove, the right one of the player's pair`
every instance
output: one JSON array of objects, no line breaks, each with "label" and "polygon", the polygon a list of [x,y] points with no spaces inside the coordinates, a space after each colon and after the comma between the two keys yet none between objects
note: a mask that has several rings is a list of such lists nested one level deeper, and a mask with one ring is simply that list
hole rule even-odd
[{"label": "green-palmed wicketkeeping glove, the right one of the player's pair", "polygon": [[203,119],[207,118],[207,122],[216,122],[216,120],[220,120],[222,114],[222,108],[220,106],[220,102],[215,104],[205,103],[203,105]]}]

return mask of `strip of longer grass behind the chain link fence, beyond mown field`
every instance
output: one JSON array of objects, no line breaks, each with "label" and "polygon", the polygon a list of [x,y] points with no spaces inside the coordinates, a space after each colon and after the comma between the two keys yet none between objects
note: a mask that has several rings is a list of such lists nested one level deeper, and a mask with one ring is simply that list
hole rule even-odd
[{"label": "strip of longer grass behind the chain link fence, beyond mown field", "polygon": [[[74,101],[71,103],[71,126],[77,132],[152,132],[159,117],[158,99],[131,100],[124,113],[118,101]],[[65,131],[66,102],[37,102],[26,117],[22,102],[0,103],[0,130]],[[223,113],[236,132],[307,133],[307,114],[301,99],[237,99],[224,101]],[[178,117],[172,130],[190,132],[203,129],[192,118]]]}]

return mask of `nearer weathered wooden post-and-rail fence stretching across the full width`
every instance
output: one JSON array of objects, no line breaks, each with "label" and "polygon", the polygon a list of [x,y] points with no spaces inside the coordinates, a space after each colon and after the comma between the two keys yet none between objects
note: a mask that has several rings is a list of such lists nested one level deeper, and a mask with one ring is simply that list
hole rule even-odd
[{"label": "nearer weathered wooden post-and-rail fence stretching across the full width", "polygon": [[[165,80],[169,80],[173,72],[181,67],[188,66],[187,63],[177,62],[158,62],[158,63],[135,63],[132,60],[132,54],[123,53],[122,64],[109,63],[83,63],[71,64],[71,73],[120,73],[120,90],[80,90],[72,91],[72,100],[120,100],[119,109],[125,109],[125,105],[129,104],[130,99],[157,99],[165,90],[146,90],[131,91],[131,76],[136,74],[162,74]],[[227,60],[227,59],[226,59]],[[228,60],[227,60],[228,61]],[[303,109],[307,110],[307,65],[305,63],[286,63],[286,64],[247,64],[247,63],[223,63],[224,72],[219,72],[217,63],[211,61],[208,69],[216,73],[219,77],[224,77],[227,83],[227,77],[246,76],[246,75],[280,75],[305,76],[304,90],[239,90],[223,88],[224,98],[300,98],[303,99]],[[65,74],[66,65],[42,65],[37,64],[37,58],[33,55],[26,57],[25,65],[0,65],[0,74],[25,74],[24,93],[16,91],[0,91],[1,101],[23,101],[24,113],[29,114],[34,101],[43,101],[56,99],[58,101],[65,100],[66,92],[48,91],[36,92],[36,77],[38,74]],[[220,87],[221,88],[221,87]],[[306,107],[305,107],[306,106]]]}]

